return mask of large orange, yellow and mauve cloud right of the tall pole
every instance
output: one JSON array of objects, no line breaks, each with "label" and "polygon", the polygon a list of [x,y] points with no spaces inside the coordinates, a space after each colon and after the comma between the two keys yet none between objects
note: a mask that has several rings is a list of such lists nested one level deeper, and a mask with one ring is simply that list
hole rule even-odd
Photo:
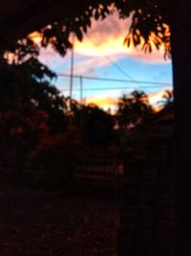
[{"label": "large orange, yellow and mauve cloud right of the tall pole", "polygon": [[169,61],[164,62],[162,46],[160,50],[154,49],[152,54],[145,54],[140,47],[124,45],[124,38],[128,33],[130,24],[130,18],[118,19],[117,14],[108,16],[105,20],[93,20],[92,28],[84,36],[83,41],[75,41],[75,52],[89,57],[119,55],[120,58],[136,58],[149,63],[169,63]]}]

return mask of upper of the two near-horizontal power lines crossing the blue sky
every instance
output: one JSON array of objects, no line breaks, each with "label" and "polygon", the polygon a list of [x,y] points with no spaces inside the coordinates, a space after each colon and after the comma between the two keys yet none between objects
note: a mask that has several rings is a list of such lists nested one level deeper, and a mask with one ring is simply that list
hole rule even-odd
[{"label": "upper of the two near-horizontal power lines crossing the blue sky", "polygon": [[[71,76],[70,75],[67,75],[67,74],[61,74],[61,73],[58,73],[57,74],[58,77],[65,77],[65,78],[70,78]],[[80,79],[80,78],[83,78],[83,80],[95,80],[95,81],[117,81],[117,82],[133,82],[131,80],[119,80],[119,79],[106,79],[106,78],[96,78],[96,77],[83,77],[83,76],[78,76],[78,75],[74,75],[73,76],[74,78],[76,79]],[[168,82],[159,82],[159,81],[136,81],[138,83],[143,83],[143,84],[156,84],[156,85],[159,85],[161,87],[166,87],[166,86],[172,86],[171,83],[168,83]],[[159,87],[159,86],[152,86],[152,87]],[[143,87],[143,86],[141,86]]]}]

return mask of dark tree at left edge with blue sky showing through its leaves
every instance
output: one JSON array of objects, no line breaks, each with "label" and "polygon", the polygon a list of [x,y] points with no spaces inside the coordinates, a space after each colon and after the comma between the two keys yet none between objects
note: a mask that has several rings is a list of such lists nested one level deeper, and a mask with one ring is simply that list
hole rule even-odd
[{"label": "dark tree at left edge with blue sky showing through its leaves", "polygon": [[65,98],[50,83],[53,72],[36,58],[21,64],[0,64],[0,112],[14,111],[31,115],[35,110],[47,112],[51,132],[67,127]]}]

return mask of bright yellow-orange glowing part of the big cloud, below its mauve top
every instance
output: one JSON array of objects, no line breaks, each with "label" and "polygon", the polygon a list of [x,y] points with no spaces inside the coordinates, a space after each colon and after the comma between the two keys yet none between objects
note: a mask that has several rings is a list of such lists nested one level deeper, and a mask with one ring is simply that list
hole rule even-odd
[{"label": "bright yellow-orange glowing part of the big cloud, below its mauve top", "polygon": [[[123,24],[125,24],[123,20],[116,20],[116,22],[122,22]],[[164,45],[160,46],[159,51],[156,49],[153,42],[153,39],[155,37],[154,34],[152,34],[151,36],[151,45],[153,52],[152,54],[145,55],[145,53],[142,51],[142,45],[144,42],[142,37],[140,37],[141,43],[137,48],[135,48],[133,44],[131,44],[129,47],[123,44],[125,35],[127,33],[126,26],[123,25],[124,28],[122,28],[121,31],[118,32],[118,34],[115,30],[113,31],[112,29],[110,33],[106,35],[105,32],[98,33],[98,24],[94,25],[94,22],[93,31],[94,26],[96,27],[96,33],[92,33],[90,31],[90,35],[85,35],[82,42],[75,41],[74,49],[76,53],[89,57],[103,57],[104,55],[120,55],[121,57],[123,55],[130,58],[138,58],[145,62],[163,62]]]}]

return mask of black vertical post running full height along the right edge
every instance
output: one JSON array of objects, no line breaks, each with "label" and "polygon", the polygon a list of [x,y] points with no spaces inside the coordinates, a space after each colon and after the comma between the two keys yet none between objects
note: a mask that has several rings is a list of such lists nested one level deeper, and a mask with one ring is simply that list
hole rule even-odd
[{"label": "black vertical post running full height along the right edge", "polygon": [[177,147],[177,255],[191,255],[190,0],[172,1],[171,32]]}]

